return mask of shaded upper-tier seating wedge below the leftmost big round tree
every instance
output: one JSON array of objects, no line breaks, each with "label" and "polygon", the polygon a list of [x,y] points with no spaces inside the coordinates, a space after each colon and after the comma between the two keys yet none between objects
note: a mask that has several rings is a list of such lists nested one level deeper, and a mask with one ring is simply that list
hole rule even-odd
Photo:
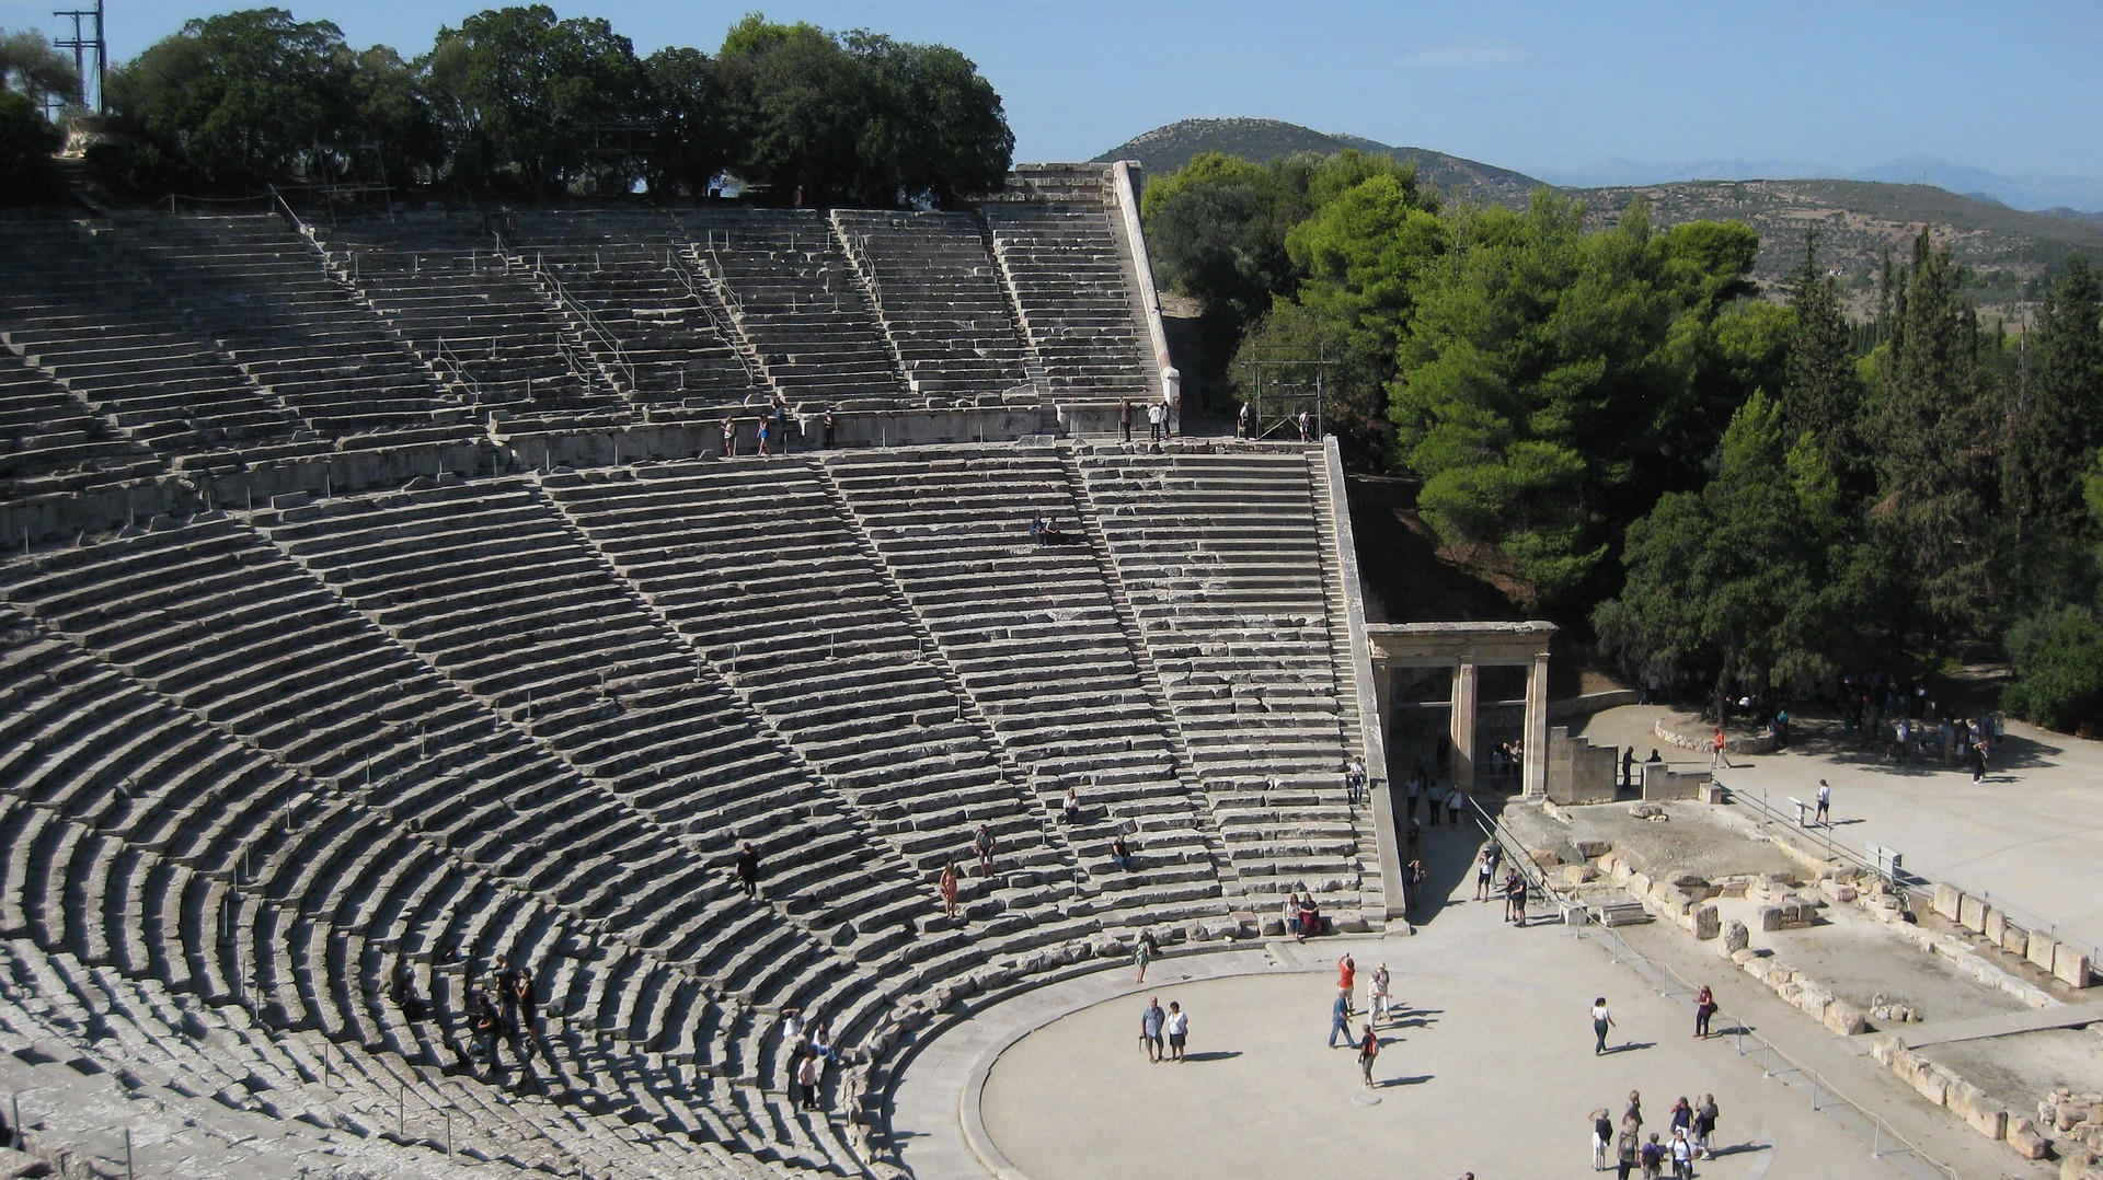
[{"label": "shaded upper-tier seating wedge below the leftmost big round tree", "polygon": [[116,238],[189,324],[315,429],[431,425],[442,393],[431,372],[278,217],[143,217],[118,223]]}]

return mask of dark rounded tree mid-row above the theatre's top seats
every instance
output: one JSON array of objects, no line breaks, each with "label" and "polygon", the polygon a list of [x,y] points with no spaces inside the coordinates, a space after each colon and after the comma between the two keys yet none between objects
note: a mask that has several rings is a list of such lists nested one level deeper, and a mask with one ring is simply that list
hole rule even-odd
[{"label": "dark rounded tree mid-row above the theatre's top seats", "polygon": [[641,177],[646,72],[629,38],[547,4],[490,8],[437,32],[425,93],[446,179],[551,198],[622,194]]}]

